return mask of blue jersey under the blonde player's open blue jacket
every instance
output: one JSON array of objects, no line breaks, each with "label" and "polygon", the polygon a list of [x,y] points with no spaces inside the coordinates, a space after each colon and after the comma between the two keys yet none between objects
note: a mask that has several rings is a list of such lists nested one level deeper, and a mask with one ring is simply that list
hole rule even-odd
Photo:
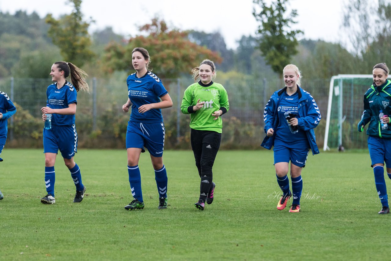
[{"label": "blue jersey under the blonde player's open blue jacket", "polygon": [[276,131],[276,139],[274,141],[274,146],[283,145],[287,148],[309,148],[307,135],[303,130],[297,128],[293,130],[289,128],[289,124],[286,120],[286,117],[291,113],[292,118],[299,119],[298,113],[298,93],[294,93],[289,96],[284,92],[281,95],[280,103],[278,104],[277,113],[278,113],[278,126]]}]

